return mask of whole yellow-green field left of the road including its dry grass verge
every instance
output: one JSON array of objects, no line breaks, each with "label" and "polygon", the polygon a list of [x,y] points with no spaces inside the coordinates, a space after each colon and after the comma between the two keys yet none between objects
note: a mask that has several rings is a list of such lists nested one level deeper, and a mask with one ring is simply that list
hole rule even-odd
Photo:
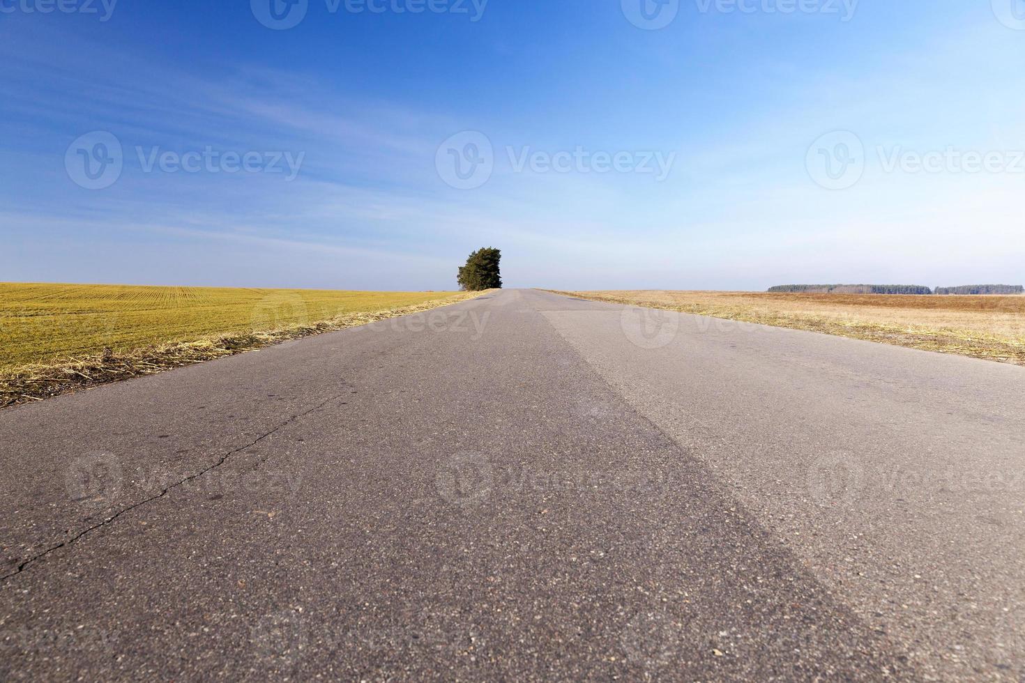
[{"label": "whole yellow-green field left of the road including its dry grass verge", "polygon": [[0,408],[480,294],[0,283]]}]

